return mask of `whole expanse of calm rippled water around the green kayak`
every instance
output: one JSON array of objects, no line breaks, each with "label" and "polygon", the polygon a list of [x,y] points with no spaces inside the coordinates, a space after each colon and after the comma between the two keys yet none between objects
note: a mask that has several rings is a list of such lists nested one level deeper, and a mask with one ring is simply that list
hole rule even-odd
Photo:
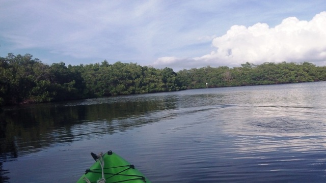
[{"label": "whole expanse of calm rippled water around the green kayak", "polygon": [[152,182],[326,182],[326,82],[12,107],[1,181],[75,182],[113,150]]}]

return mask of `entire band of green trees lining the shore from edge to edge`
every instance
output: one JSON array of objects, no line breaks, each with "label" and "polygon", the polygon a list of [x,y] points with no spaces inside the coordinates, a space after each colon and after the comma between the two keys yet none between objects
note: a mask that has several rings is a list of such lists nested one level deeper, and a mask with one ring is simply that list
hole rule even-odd
[{"label": "entire band of green trees lining the shore from edge to edge", "polygon": [[208,87],[325,81],[326,67],[304,62],[203,67],[174,72],[133,63],[68,67],[43,64],[31,54],[0,57],[0,106]]}]

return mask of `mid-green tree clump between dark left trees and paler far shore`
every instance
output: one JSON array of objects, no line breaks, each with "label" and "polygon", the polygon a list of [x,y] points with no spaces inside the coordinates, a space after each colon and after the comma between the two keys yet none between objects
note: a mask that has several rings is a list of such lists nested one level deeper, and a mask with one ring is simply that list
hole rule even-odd
[{"label": "mid-green tree clump between dark left trees and paler far shore", "polygon": [[121,62],[88,65],[83,72],[87,88],[98,97],[176,91],[181,88],[176,76],[170,68],[159,70]]}]

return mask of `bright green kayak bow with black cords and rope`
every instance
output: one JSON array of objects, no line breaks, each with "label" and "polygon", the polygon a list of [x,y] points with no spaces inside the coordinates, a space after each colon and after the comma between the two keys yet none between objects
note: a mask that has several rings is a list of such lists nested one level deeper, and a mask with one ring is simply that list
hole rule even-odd
[{"label": "bright green kayak bow with black cords and rope", "polygon": [[77,183],[97,182],[101,178],[110,183],[150,183],[139,170],[111,150],[102,156],[96,156],[92,153],[92,157],[96,162],[86,170],[86,173],[78,179]]}]

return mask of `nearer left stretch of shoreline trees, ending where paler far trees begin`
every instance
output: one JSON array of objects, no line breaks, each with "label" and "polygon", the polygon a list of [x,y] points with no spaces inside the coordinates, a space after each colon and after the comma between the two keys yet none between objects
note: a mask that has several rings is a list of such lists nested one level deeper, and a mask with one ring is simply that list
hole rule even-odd
[{"label": "nearer left stretch of shoreline trees, ending where paler far trees begin", "polygon": [[0,57],[0,103],[16,105],[185,89],[170,68],[104,60],[68,67],[43,64],[31,54]]}]

